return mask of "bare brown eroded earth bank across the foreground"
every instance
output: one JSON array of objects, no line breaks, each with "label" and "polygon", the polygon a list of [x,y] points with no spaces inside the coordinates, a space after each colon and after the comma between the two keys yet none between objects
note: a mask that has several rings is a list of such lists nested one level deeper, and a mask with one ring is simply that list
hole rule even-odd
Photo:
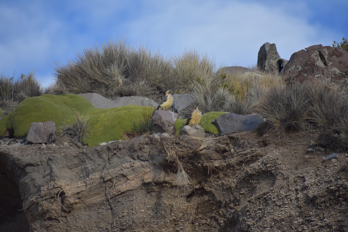
[{"label": "bare brown eroded earth bank across the foreground", "polygon": [[348,231],[348,155],[323,162],[317,136],[2,139],[0,231]]}]

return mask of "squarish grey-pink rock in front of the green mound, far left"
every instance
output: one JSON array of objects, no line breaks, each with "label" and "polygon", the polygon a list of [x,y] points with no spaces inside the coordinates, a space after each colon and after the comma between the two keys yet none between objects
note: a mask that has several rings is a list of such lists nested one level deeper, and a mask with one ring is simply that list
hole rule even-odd
[{"label": "squarish grey-pink rock in front of the green mound, far left", "polygon": [[56,139],[57,128],[53,121],[32,122],[26,140],[31,143],[48,143]]}]

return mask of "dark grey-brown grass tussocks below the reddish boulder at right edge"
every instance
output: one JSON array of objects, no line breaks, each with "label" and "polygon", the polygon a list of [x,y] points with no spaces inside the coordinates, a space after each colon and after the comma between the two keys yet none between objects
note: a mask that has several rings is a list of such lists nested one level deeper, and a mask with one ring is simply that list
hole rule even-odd
[{"label": "dark grey-brown grass tussocks below the reddish boulder at right edge", "polygon": [[279,139],[287,131],[317,128],[316,145],[347,151],[347,102],[347,90],[323,78],[266,88],[256,110],[266,118],[268,133]]}]

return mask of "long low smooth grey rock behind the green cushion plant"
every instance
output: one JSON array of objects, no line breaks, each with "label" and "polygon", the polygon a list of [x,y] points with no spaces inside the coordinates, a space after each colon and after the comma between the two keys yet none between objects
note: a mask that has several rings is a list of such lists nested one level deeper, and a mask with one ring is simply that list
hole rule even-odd
[{"label": "long low smooth grey rock behind the green cushion plant", "polygon": [[87,94],[78,94],[78,95],[86,98],[90,103],[92,103],[94,107],[102,108],[102,109],[125,106],[125,105],[151,106],[155,108],[158,106],[158,104],[152,99],[149,99],[147,97],[140,97],[140,96],[119,97],[118,99],[112,101],[97,93],[87,93]]}]

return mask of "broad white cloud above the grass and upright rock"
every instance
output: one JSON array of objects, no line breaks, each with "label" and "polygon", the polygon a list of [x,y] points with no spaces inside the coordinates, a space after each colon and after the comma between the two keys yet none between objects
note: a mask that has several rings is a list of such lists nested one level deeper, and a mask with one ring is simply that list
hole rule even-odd
[{"label": "broad white cloud above the grass and upright rock", "polygon": [[289,59],[304,47],[332,41],[325,36],[327,31],[309,25],[305,17],[288,15],[286,7],[238,1],[216,7],[212,3],[176,1],[129,22],[127,34],[128,38],[143,38],[151,47],[158,46],[172,54],[196,48],[212,53],[227,65],[243,66],[256,63],[265,42],[276,43],[280,56]]}]

